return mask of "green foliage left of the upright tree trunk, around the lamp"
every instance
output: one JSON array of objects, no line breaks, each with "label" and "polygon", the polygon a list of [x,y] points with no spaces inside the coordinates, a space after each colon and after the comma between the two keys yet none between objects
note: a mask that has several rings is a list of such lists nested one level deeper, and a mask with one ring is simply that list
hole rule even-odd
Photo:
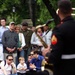
[{"label": "green foliage left of the upright tree trunk, around the lamp", "polygon": [[[22,19],[29,18],[28,0],[0,0],[0,17],[7,18],[7,21],[21,23]],[[15,12],[13,12],[15,7]]]}]

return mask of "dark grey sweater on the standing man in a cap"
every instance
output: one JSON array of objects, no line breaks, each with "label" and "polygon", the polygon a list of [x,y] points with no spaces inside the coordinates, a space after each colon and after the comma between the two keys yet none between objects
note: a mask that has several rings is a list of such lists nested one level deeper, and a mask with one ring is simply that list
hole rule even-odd
[{"label": "dark grey sweater on the standing man in a cap", "polygon": [[10,31],[10,30],[5,31],[3,33],[3,36],[2,36],[2,43],[4,46],[4,53],[9,53],[6,50],[6,47],[17,48],[17,46],[18,46],[18,34],[14,31]]}]

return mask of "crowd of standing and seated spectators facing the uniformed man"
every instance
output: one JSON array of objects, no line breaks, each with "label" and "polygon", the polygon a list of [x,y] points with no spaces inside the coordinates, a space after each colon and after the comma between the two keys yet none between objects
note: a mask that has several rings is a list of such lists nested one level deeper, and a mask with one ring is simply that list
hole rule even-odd
[{"label": "crowd of standing and seated spectators facing the uniformed man", "polygon": [[47,49],[50,49],[52,30],[49,29],[48,24],[52,21],[49,20],[44,25],[37,25],[34,30],[29,29],[25,21],[21,25],[10,22],[7,27],[6,19],[0,19],[1,75],[30,75],[32,70],[41,71],[42,61],[45,61],[43,43],[47,45]]}]

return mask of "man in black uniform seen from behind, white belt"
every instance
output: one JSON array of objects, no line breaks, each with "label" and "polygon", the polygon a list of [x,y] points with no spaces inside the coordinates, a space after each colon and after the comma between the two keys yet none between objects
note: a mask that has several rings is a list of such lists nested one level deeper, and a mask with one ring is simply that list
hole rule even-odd
[{"label": "man in black uniform seen from behind, white belt", "polygon": [[61,24],[53,29],[48,62],[54,65],[54,75],[75,75],[75,21],[71,2],[60,0],[58,8]]}]

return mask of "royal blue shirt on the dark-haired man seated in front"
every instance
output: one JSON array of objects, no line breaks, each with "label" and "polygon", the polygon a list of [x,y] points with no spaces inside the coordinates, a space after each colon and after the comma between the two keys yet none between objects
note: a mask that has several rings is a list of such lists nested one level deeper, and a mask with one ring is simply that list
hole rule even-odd
[{"label": "royal blue shirt on the dark-haired man seated in front", "polygon": [[36,70],[41,70],[42,60],[44,59],[43,56],[39,55],[38,58],[33,58],[31,63],[36,66]]}]

